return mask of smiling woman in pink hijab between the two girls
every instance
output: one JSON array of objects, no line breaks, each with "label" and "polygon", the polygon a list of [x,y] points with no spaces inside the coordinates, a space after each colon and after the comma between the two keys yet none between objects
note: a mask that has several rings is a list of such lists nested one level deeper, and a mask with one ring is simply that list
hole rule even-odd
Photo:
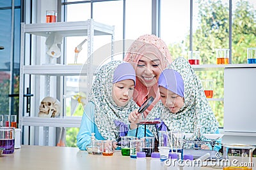
[{"label": "smiling woman in pink hijab between the two girls", "polygon": [[157,36],[145,34],[132,43],[124,60],[130,62],[136,71],[133,100],[141,106],[148,97],[154,97],[153,103],[144,112],[144,116],[147,117],[160,99],[157,80],[163,69],[171,62],[168,47]]}]

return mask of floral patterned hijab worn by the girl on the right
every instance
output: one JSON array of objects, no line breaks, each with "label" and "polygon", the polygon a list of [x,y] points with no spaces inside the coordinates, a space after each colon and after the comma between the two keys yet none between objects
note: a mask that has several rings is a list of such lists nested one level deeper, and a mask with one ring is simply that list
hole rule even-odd
[{"label": "floral patterned hijab worn by the girl on the right", "polygon": [[[218,122],[204,94],[201,81],[189,62],[179,57],[166,69],[177,71],[184,81],[184,106],[172,113],[159,101],[152,109],[150,118],[161,118],[170,131],[194,132],[196,125],[202,125],[202,133],[214,133]],[[175,79],[173,79],[175,81]],[[156,136],[156,129],[148,127]]]}]

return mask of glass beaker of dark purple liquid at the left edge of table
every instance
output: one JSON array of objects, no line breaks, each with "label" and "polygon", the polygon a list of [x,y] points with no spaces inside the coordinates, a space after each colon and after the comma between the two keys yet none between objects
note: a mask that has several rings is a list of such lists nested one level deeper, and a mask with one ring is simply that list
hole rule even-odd
[{"label": "glass beaker of dark purple liquid at the left edge of table", "polygon": [[14,127],[0,127],[0,148],[4,148],[3,154],[14,152]]}]

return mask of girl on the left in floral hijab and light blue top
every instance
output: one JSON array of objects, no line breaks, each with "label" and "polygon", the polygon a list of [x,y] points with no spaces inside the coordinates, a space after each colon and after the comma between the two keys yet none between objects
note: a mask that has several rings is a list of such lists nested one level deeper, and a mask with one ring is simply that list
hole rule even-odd
[{"label": "girl on the left in floral hijab and light blue top", "polygon": [[132,100],[136,74],[131,64],[112,61],[95,73],[88,104],[84,108],[77,146],[86,150],[92,133],[99,140],[116,140],[128,131],[128,115],[138,108]]}]

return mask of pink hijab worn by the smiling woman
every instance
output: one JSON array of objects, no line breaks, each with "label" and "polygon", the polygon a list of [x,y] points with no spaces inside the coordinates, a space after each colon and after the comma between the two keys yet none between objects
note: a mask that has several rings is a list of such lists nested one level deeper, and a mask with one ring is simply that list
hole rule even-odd
[{"label": "pink hijab worn by the smiling woman", "polygon": [[[153,53],[156,55],[156,57],[161,62],[160,68],[162,70],[172,61],[170,52],[164,41],[157,36],[150,34],[145,34],[136,39],[127,51],[124,60],[130,62],[136,70],[138,61],[145,53]],[[156,83],[152,88],[156,93],[156,98],[145,111],[146,115],[148,115],[148,112],[152,110],[154,105],[160,99],[158,84]],[[136,77],[136,86],[134,89],[133,100],[138,104],[138,106],[141,106],[141,104],[143,104],[148,97],[147,87],[145,87],[145,85],[141,83],[140,79]]]}]

